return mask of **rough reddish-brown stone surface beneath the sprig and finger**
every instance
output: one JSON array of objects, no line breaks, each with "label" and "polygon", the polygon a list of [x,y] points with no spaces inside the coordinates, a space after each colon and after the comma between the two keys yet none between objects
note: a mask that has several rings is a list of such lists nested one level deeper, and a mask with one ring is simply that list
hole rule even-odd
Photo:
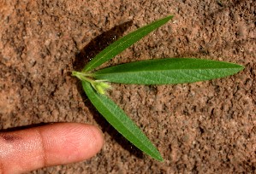
[{"label": "rough reddish-brown stone surface beneath the sprig and finger", "polygon": [[[104,66],[197,57],[245,69],[194,84],[114,85],[111,97],[156,144],[160,163],[104,121],[68,72],[84,47],[93,55],[93,41],[108,43],[125,31],[102,36],[113,27],[132,21],[125,34],[168,14],[171,22]],[[104,132],[104,148],[92,159],[32,173],[255,172],[254,0],[0,0],[0,24],[0,129],[82,122]]]}]

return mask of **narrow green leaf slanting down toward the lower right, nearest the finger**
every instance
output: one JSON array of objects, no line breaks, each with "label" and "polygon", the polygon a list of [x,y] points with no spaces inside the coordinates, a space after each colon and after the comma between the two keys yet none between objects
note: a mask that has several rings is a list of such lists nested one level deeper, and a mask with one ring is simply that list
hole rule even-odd
[{"label": "narrow green leaf slanting down toward the lower right, nearest the finger", "polygon": [[104,116],[110,125],[137,148],[140,148],[141,151],[154,159],[163,161],[158,149],[154,147],[152,142],[134,125],[134,122],[128,118],[126,113],[115,102],[111,101],[108,96],[98,94],[88,82],[83,81],[82,85],[94,107],[97,108],[98,112]]}]

